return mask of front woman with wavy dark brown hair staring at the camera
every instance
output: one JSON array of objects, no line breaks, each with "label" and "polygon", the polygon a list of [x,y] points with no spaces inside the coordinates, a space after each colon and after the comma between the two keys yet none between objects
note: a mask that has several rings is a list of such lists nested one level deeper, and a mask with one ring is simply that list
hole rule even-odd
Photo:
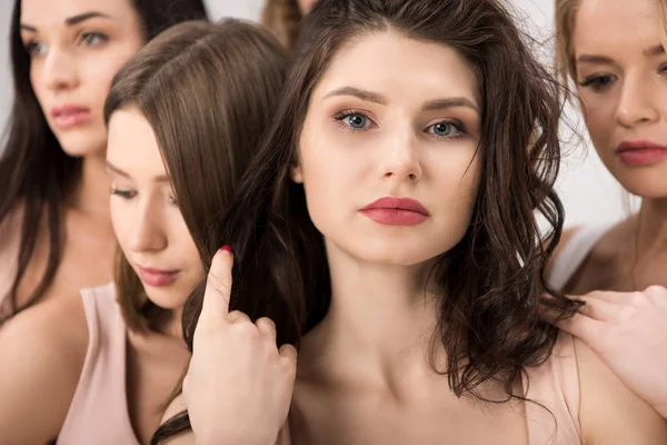
[{"label": "front woman with wavy dark brown hair staring at the camera", "polygon": [[173,443],[667,442],[540,318],[560,103],[501,3],[321,0],[302,31],[186,304]]}]

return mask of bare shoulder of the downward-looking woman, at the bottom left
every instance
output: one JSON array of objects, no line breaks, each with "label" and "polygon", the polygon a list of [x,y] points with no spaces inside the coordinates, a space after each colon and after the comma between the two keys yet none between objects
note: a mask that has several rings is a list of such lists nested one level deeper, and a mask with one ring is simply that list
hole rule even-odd
[{"label": "bare shoulder of the downward-looking woman, at the bottom left", "polygon": [[31,307],[0,328],[0,431],[3,443],[57,437],[88,349],[81,298]]}]

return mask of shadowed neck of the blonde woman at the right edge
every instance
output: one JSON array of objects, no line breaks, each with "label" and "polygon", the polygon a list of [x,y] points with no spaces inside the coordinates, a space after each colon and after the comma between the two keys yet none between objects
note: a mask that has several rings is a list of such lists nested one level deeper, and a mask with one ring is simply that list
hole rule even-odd
[{"label": "shadowed neck of the blonde woman at the right edge", "polygon": [[667,198],[647,198],[637,215],[637,256],[663,253],[667,253]]}]

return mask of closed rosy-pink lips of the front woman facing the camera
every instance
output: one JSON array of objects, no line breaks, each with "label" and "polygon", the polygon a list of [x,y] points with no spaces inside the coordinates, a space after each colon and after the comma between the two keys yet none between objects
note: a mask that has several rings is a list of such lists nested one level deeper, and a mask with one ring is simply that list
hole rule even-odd
[{"label": "closed rosy-pink lips of the front woman facing the camera", "polygon": [[359,211],[370,220],[388,226],[416,226],[430,216],[421,202],[410,198],[380,198]]}]

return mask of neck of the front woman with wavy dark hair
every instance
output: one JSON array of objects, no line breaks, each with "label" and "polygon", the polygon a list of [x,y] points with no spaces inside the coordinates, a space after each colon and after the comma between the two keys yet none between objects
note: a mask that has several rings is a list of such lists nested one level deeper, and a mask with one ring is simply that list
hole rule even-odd
[{"label": "neck of the front woman with wavy dark hair", "polygon": [[331,305],[310,343],[322,365],[376,380],[430,373],[437,319],[434,294],[426,291],[428,266],[369,264],[330,244],[327,256]]}]

